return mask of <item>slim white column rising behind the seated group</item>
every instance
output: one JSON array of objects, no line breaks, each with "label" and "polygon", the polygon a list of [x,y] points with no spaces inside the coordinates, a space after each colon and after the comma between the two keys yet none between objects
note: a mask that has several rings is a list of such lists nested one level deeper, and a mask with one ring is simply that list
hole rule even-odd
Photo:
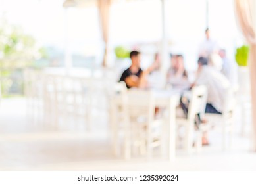
[{"label": "slim white column rising behind the seated group", "polygon": [[162,40],[161,40],[161,73],[166,80],[168,70],[169,53],[168,53],[168,36],[166,30],[166,0],[161,0],[162,3]]}]

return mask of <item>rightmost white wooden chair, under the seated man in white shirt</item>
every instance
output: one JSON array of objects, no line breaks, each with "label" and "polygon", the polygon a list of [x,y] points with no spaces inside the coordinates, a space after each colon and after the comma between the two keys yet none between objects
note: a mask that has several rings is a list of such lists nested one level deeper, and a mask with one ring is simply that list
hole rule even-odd
[{"label": "rightmost white wooden chair, under the seated man in white shirt", "polygon": [[234,89],[231,87],[226,91],[222,114],[205,114],[205,118],[222,128],[222,149],[226,150],[226,138],[228,137],[228,147],[232,145],[232,133],[234,129],[234,110],[236,108],[236,99],[234,98]]}]

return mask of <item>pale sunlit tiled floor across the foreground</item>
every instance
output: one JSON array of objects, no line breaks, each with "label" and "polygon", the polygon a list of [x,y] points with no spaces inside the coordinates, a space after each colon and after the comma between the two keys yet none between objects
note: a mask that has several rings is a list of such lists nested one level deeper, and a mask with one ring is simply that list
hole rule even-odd
[{"label": "pale sunlit tiled floor across the foreground", "polygon": [[[26,116],[25,99],[3,99],[0,108],[0,170],[256,170],[249,136],[234,134],[232,149],[222,152],[221,133],[200,154],[177,151],[174,162],[164,158],[125,161],[111,152],[106,117],[98,116],[90,133],[82,122],[61,128],[45,126]],[[240,129],[240,123],[236,129]],[[248,126],[249,127],[249,126]]]}]

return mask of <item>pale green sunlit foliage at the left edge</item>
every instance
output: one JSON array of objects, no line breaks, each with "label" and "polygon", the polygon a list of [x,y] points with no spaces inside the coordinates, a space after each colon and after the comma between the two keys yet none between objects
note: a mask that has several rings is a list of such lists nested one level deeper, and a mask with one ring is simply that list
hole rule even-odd
[{"label": "pale green sunlit foliage at the left edge", "polygon": [[3,97],[21,94],[22,71],[47,53],[36,47],[35,39],[0,17],[0,78]]}]

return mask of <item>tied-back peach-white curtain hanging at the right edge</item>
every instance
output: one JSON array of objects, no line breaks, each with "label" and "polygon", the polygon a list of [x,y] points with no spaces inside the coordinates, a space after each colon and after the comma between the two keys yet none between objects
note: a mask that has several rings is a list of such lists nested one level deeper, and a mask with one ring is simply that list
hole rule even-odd
[{"label": "tied-back peach-white curtain hanging at the right edge", "polygon": [[[234,0],[236,17],[244,37],[249,43],[249,68],[251,78],[251,104],[253,120],[253,149],[256,151],[256,35],[255,0]],[[245,118],[245,117],[243,117]]]}]

